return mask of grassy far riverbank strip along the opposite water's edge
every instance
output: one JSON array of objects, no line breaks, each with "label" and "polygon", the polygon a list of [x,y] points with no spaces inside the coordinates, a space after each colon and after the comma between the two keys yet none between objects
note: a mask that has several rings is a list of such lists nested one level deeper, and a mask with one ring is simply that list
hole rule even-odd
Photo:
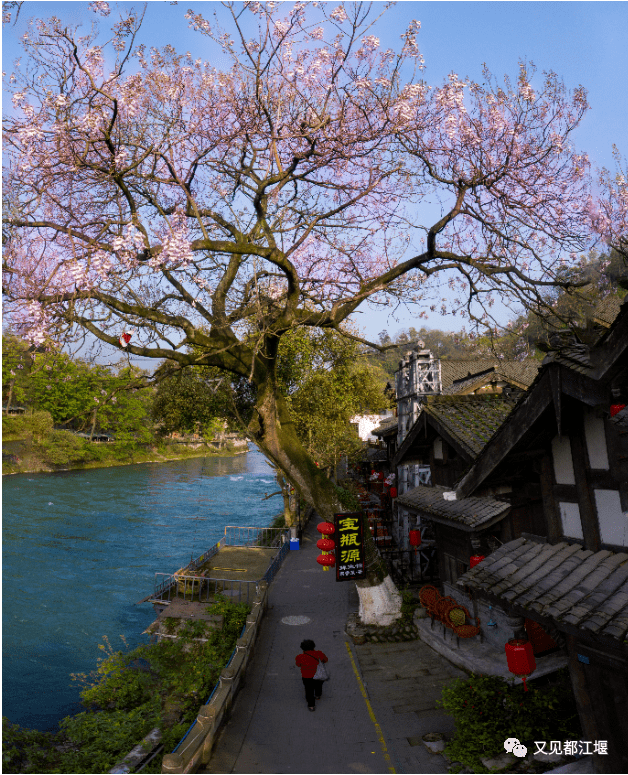
[{"label": "grassy far riverbank strip along the opposite water's edge", "polygon": [[[56,438],[58,434],[62,438]],[[93,468],[166,463],[198,457],[234,457],[245,455],[248,447],[210,445],[187,447],[182,444],[137,444],[110,442],[95,444],[71,434],[53,431],[51,439],[36,443],[32,439],[2,440],[2,475],[83,471]]]}]

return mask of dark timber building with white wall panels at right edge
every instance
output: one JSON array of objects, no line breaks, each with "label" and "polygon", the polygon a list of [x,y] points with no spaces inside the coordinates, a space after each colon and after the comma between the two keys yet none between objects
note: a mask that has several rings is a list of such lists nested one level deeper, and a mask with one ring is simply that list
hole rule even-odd
[{"label": "dark timber building with white wall panels at right edge", "polygon": [[547,356],[446,497],[464,512],[501,490],[510,504],[503,545],[482,547],[487,556],[458,577],[457,597],[469,596],[476,611],[502,611],[510,637],[542,628],[566,651],[584,737],[607,741],[594,769],[625,773],[628,302],[604,330],[594,346],[572,341]]}]

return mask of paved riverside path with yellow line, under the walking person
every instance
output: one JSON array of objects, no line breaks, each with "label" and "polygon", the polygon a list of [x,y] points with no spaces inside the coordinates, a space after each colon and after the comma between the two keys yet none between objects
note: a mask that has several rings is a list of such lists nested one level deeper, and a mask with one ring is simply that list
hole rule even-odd
[{"label": "paved riverside path with yellow line, under the walking person", "polygon": [[[317,521],[270,586],[246,683],[201,772],[447,772],[418,743],[425,732],[453,731],[435,701],[462,672],[421,641],[353,645],[345,625],[357,609],[355,584],[317,564]],[[294,664],[305,638],[329,657],[331,678],[313,713]]]}]

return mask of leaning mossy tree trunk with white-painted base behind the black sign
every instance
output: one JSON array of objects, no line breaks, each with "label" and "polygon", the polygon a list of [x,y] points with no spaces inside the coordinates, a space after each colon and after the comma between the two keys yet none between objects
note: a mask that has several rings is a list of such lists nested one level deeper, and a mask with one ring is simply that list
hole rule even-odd
[{"label": "leaning mossy tree trunk with white-painted base behind the black sign", "polygon": [[[283,396],[268,386],[259,387],[255,409],[248,428],[251,438],[318,515],[333,522],[334,514],[342,511],[336,488],[299,441]],[[364,537],[367,575],[356,584],[360,619],[385,626],[401,616],[401,596],[377,551],[366,514]]]}]

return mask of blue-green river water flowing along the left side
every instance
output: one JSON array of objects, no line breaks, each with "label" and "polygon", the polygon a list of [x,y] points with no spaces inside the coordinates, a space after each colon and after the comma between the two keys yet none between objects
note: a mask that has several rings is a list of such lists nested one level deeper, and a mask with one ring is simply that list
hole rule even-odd
[{"label": "blue-green river water flowing along the left side", "polygon": [[147,642],[157,571],[215,544],[226,525],[266,526],[281,498],[264,456],[193,458],[3,478],[3,715],[42,731],[81,710],[72,673],[108,638]]}]

